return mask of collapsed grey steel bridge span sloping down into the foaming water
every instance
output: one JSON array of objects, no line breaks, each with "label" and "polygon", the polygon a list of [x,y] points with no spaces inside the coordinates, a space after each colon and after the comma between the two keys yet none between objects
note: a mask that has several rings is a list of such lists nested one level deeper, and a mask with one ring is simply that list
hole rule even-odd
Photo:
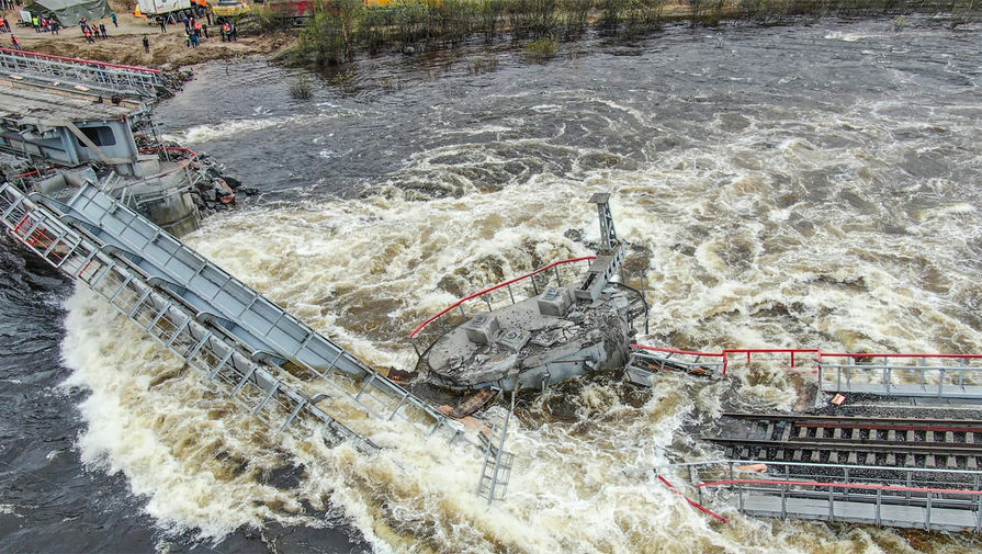
[{"label": "collapsed grey steel bridge span sloping down into the foaming water", "polygon": [[[66,202],[4,183],[0,221],[205,378],[224,382],[232,398],[279,431],[300,418],[374,450],[373,422],[398,418],[425,436],[490,451],[490,441],[469,438],[460,422],[91,182]],[[494,446],[497,468],[507,453],[501,443]],[[507,472],[492,473],[490,488],[504,489]]]}]

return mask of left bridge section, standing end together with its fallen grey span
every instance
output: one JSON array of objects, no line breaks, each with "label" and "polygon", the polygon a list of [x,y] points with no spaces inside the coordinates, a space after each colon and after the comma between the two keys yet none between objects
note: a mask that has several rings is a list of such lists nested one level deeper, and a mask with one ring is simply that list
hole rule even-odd
[{"label": "left bridge section, standing end together with its fallen grey span", "polygon": [[0,151],[33,169],[21,186],[0,184],[0,221],[16,240],[274,429],[306,421],[376,450],[379,423],[405,420],[474,445],[478,494],[504,495],[507,418],[489,437],[466,432],[176,238],[199,227],[206,192],[235,195],[196,152],[137,146],[134,125],[154,132],[147,100],[161,71],[5,48],[0,71]]}]

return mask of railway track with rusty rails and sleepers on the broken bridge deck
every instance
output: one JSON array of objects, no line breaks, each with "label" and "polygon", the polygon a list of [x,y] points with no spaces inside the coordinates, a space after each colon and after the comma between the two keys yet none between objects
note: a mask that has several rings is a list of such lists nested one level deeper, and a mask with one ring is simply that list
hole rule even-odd
[{"label": "railway track with rusty rails and sleepers on the broken bridge deck", "polygon": [[979,470],[982,420],[723,414],[703,437],[727,457],[881,467]]}]

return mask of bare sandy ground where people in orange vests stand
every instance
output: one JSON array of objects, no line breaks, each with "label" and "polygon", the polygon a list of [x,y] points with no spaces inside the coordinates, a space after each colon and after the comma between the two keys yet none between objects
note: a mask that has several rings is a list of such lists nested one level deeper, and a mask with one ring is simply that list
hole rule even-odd
[{"label": "bare sandy ground where people in orange vests stand", "polygon": [[[5,12],[4,16],[10,16],[11,22],[20,20],[16,11]],[[237,42],[227,43],[222,42],[217,26],[210,26],[211,38],[203,38],[197,48],[188,48],[183,25],[168,25],[167,33],[161,33],[160,27],[146,18],[136,18],[123,11],[116,11],[116,16],[118,27],[114,27],[109,18],[90,22],[95,25],[104,24],[109,33],[109,38],[97,39],[95,44],[86,43],[78,25],[63,29],[58,35],[35,33],[32,27],[12,25],[12,29],[25,50],[149,67],[161,67],[167,64],[179,67],[248,54],[271,54],[295,39],[285,34],[272,36],[239,34]],[[150,54],[144,53],[144,36],[150,39]],[[10,47],[9,33],[0,34],[0,45]]]}]

